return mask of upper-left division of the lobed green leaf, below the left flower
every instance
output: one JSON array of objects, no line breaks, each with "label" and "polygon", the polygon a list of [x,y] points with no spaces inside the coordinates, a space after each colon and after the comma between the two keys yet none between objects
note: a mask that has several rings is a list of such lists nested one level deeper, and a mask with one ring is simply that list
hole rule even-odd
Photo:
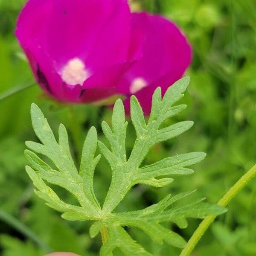
[{"label": "upper-left division of the lobed green leaf, below the left flower", "polygon": [[[87,134],[79,175],[70,153],[67,131],[64,125],[59,126],[59,141],[57,142],[47,119],[44,118],[43,113],[35,104],[31,106],[31,117],[35,133],[42,144],[27,142],[26,145],[32,151],[48,157],[55,164],[57,170],[52,169],[32,151],[26,150],[25,156],[29,164],[42,179],[61,186],[72,193],[87,216],[93,219],[99,218],[101,208],[93,192],[93,174],[100,157],[94,158],[97,145],[96,129],[91,128]],[[88,162],[84,163],[84,161]],[[46,191],[42,192],[41,189],[38,191],[38,194],[44,198],[45,193]],[[52,195],[49,195],[49,197],[52,197]],[[47,204],[55,209],[61,209],[54,205],[54,201],[47,202]]]}]

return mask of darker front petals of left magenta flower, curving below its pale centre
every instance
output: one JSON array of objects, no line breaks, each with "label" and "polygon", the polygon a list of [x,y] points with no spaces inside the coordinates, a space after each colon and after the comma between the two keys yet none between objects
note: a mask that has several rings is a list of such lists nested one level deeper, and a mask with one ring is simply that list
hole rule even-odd
[{"label": "darker front petals of left magenta flower, curving below its pale centre", "polygon": [[42,52],[37,51],[35,55],[26,52],[26,55],[29,58],[32,71],[45,93],[62,102],[90,103],[117,94],[118,90],[115,85],[133,64],[133,62],[127,62],[99,70],[87,79],[82,87],[80,85],[70,87],[62,81],[58,73],[55,72],[52,62]]}]

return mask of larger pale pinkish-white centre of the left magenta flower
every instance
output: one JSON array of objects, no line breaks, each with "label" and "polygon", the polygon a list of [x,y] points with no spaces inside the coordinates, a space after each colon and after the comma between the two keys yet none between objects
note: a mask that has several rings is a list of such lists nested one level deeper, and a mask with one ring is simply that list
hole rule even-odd
[{"label": "larger pale pinkish-white centre of the left magenta flower", "polygon": [[89,73],[85,69],[84,62],[79,58],[73,58],[67,62],[61,72],[61,78],[64,82],[70,85],[84,84],[84,81],[89,78]]}]

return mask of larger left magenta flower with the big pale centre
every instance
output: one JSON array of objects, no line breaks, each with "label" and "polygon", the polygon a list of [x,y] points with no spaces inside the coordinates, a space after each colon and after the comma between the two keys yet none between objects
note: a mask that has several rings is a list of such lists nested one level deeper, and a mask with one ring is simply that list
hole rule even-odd
[{"label": "larger left magenta flower with the big pale centre", "polygon": [[[61,101],[116,93],[122,74],[141,56],[127,0],[29,0],[15,33],[41,87]],[[93,87],[111,88],[90,98],[85,91]]]}]

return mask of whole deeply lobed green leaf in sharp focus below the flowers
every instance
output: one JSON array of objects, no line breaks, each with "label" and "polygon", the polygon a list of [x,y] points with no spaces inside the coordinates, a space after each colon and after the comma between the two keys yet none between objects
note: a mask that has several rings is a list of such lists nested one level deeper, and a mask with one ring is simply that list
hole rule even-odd
[{"label": "whole deeply lobed green leaf in sharp focus below the flowers", "polygon": [[[166,91],[163,98],[160,88],[157,88],[152,98],[152,110],[147,123],[136,97],[131,97],[131,120],[137,139],[129,157],[125,143],[128,123],[125,121],[122,101],[116,101],[113,108],[112,128],[107,122],[102,122],[102,131],[108,139],[110,148],[101,141],[98,142],[99,150],[108,160],[112,170],[111,185],[102,208],[93,190],[94,171],[101,157],[100,155],[95,157],[96,128],[90,128],[87,134],[78,171],[70,152],[64,125],[59,126],[57,141],[41,110],[37,105],[32,104],[32,125],[41,143],[26,142],[27,147],[32,151],[26,150],[25,155],[31,166],[26,166],[26,171],[37,188],[35,192],[49,207],[63,212],[64,219],[95,220],[90,228],[92,237],[107,227],[109,239],[100,250],[101,256],[110,255],[116,247],[119,247],[125,255],[131,253],[151,255],[128,235],[123,228],[125,226],[140,228],[159,244],[165,241],[182,248],[186,245],[186,241],[177,233],[163,227],[161,222],[173,222],[180,228],[185,228],[186,218],[205,218],[207,215],[219,215],[226,211],[223,207],[203,203],[204,199],[174,205],[176,201],[192,193],[186,192],[175,196],[167,195],[159,203],[142,210],[113,212],[135,184],[166,186],[173,181],[170,176],[192,174],[193,171],[187,167],[204,159],[205,153],[193,152],[167,157],[151,165],[142,165],[148,151],[155,144],[177,137],[192,127],[193,122],[186,121],[162,128],[166,119],[186,108],[186,105],[174,106],[174,104],[183,97],[188,84],[188,77],[177,81]],[[49,158],[55,167],[51,167],[33,151]],[[62,201],[45,181],[66,189],[76,198],[79,206]]]}]

